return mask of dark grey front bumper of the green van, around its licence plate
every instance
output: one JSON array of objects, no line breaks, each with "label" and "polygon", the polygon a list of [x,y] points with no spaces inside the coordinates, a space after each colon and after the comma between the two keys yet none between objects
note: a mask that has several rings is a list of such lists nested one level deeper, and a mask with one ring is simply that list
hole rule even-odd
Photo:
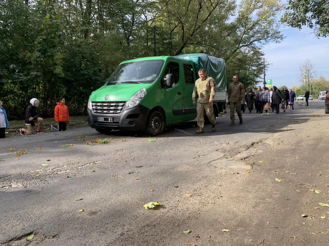
[{"label": "dark grey front bumper of the green van, around its licence plate", "polygon": [[[119,115],[94,114],[87,109],[88,124],[91,128],[114,130],[145,130],[146,121],[150,110],[142,105],[132,109],[123,110]],[[113,122],[98,121],[98,117],[113,118]]]}]

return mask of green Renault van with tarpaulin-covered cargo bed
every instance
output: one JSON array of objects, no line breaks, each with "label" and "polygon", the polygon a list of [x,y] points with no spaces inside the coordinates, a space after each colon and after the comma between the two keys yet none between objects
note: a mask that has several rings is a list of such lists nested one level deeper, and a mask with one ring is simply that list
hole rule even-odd
[{"label": "green Renault van with tarpaulin-covered cargo bed", "polygon": [[194,82],[203,68],[215,79],[214,116],[226,102],[223,59],[205,54],[144,57],[124,61],[88,100],[88,124],[97,132],[144,130],[155,136],[166,126],[196,118]]}]

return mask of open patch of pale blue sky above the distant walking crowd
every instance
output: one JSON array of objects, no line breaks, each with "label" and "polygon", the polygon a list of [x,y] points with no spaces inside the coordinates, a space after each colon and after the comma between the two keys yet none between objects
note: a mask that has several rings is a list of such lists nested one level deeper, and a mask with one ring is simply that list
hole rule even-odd
[{"label": "open patch of pale blue sky above the distant walking crowd", "polygon": [[299,65],[309,59],[317,75],[323,75],[329,80],[329,38],[318,39],[309,28],[299,31],[282,27],[280,31],[286,38],[279,44],[272,43],[264,48],[265,58],[273,63],[265,79],[272,79],[272,86],[286,85],[293,88],[297,77],[297,87],[301,84],[298,79]]}]

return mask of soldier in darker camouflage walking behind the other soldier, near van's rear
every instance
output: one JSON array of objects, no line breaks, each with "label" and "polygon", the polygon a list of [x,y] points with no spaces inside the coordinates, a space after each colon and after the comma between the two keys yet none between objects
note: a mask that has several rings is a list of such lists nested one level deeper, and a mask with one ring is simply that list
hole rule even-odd
[{"label": "soldier in darker camouflage walking behind the other soldier, near van's rear", "polygon": [[233,83],[228,86],[227,98],[230,103],[230,116],[231,123],[230,126],[234,126],[234,111],[236,110],[240,119],[240,124],[242,124],[242,113],[241,104],[244,104],[245,91],[242,83],[238,81],[238,75],[233,75]]}]

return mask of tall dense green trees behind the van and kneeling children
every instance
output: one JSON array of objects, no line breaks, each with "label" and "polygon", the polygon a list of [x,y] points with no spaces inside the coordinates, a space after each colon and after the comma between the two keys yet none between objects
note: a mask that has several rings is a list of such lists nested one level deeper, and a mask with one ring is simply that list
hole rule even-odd
[{"label": "tall dense green trees behind the van and kneeling children", "polygon": [[[278,0],[0,0],[0,97],[21,117],[32,97],[44,116],[64,96],[71,114],[127,59],[206,53],[250,87],[262,47],[283,39]],[[267,65],[266,65],[267,66]]]}]

